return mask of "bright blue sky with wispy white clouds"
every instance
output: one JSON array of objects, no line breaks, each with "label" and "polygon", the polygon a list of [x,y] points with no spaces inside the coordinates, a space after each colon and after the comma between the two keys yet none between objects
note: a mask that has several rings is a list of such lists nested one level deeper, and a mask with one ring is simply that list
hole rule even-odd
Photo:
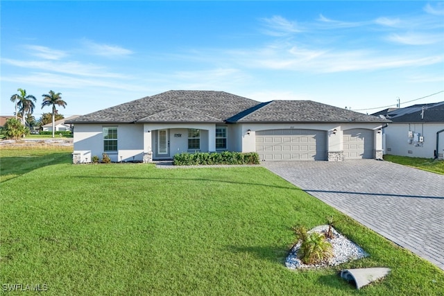
[{"label": "bright blue sky with wispy white clouds", "polygon": [[[443,1],[1,1],[1,111],[17,88],[87,114],[170,89],[377,112],[444,101]],[[405,103],[422,98],[411,103]]]}]

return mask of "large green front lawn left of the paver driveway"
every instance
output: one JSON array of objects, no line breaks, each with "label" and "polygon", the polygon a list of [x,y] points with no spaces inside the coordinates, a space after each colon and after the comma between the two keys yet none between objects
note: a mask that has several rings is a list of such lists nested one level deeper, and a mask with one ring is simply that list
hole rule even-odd
[{"label": "large green front lawn left of the paver driveway", "polygon": [[[28,153],[1,152],[2,170],[4,163],[14,164],[8,158]],[[53,153],[46,154],[30,162]],[[444,290],[442,270],[265,168],[71,165],[69,152],[54,154],[58,161],[17,171],[18,177],[1,183],[3,285],[46,285],[45,295],[442,295]],[[321,270],[285,268],[294,240],[291,226],[326,224],[330,215],[338,221],[336,229],[370,257]],[[359,291],[338,276],[341,268],[382,266],[391,274]]]}]

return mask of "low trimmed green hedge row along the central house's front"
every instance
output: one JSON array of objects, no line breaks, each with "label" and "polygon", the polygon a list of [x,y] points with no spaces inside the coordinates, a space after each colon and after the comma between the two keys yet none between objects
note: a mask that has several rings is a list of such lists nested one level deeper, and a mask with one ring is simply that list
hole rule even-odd
[{"label": "low trimmed green hedge row along the central house's front", "polygon": [[210,164],[259,164],[257,153],[224,151],[223,153],[179,153],[174,155],[175,166],[193,166]]}]

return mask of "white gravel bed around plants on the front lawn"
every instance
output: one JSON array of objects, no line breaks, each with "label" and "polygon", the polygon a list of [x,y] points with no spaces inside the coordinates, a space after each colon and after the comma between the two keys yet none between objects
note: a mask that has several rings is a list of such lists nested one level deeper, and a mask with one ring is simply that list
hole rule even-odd
[{"label": "white gravel bed around plants on the front lawn", "polygon": [[[328,225],[321,225],[310,229],[308,233],[324,233],[327,232],[327,230]],[[339,232],[336,232],[336,229],[334,229],[333,227],[332,233],[334,238],[327,238],[327,241],[332,244],[333,249],[333,256],[329,259],[329,261],[316,265],[307,265],[302,263],[302,261],[300,261],[300,259],[298,259],[298,257],[296,256],[300,248],[299,241],[298,244],[295,245],[293,249],[291,249],[289,255],[287,256],[287,259],[285,260],[285,265],[287,266],[287,268],[295,270],[298,268],[319,268],[325,266],[334,266],[368,256],[368,253],[366,253],[361,247],[359,247],[359,245],[353,243]]]}]

